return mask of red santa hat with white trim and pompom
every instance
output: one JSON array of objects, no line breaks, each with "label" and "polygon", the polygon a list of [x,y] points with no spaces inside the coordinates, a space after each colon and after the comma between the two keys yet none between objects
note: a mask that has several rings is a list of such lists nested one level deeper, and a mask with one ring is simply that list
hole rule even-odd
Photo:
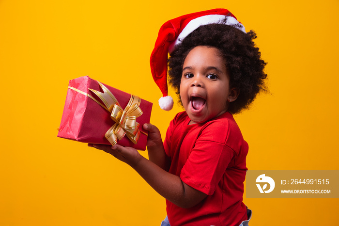
[{"label": "red santa hat with white trim and pompom", "polygon": [[173,107],[173,99],[168,96],[167,87],[168,52],[171,53],[188,34],[200,26],[223,23],[225,17],[227,17],[227,25],[232,25],[242,32],[246,32],[245,27],[227,9],[212,9],[179,16],[161,26],[150,60],[153,79],[163,95],[159,99],[161,109],[170,111]]}]

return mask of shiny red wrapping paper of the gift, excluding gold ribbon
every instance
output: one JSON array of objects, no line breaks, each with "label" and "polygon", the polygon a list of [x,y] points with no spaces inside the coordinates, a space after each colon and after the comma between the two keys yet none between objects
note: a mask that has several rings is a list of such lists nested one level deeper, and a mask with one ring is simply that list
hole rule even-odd
[{"label": "shiny red wrapping paper of the gift, excluding gold ribbon", "polygon": [[[106,84],[104,85],[117,98],[124,109],[131,95]],[[100,92],[103,92],[103,90],[98,82],[90,77],[84,76],[70,80],[69,86],[81,90],[101,102],[89,88]],[[143,113],[137,118],[137,122],[140,123],[139,130],[141,131],[138,143],[134,144],[127,136],[124,136],[122,140],[118,141],[119,145],[130,146],[139,150],[146,149],[147,135],[142,132],[147,134],[147,131],[142,128],[142,125],[150,123],[152,105],[151,102],[141,99],[140,108]],[[68,89],[58,137],[84,143],[110,145],[105,137],[105,133],[114,123],[110,118],[110,113],[90,97]]]}]

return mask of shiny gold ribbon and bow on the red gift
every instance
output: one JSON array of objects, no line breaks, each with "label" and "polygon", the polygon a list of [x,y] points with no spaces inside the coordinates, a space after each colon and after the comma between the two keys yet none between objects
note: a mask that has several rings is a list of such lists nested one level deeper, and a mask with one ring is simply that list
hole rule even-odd
[{"label": "shiny gold ribbon and bow on the red gift", "polygon": [[97,97],[99,97],[104,104],[100,103],[88,93],[85,93],[71,86],[68,86],[68,88],[87,97],[90,97],[101,107],[105,108],[109,113],[111,113],[110,117],[115,122],[115,124],[111,128],[109,128],[105,134],[105,137],[108,139],[111,145],[116,145],[118,139],[123,139],[125,135],[134,144],[137,144],[140,137],[140,124],[137,122],[137,118],[142,114],[142,110],[140,108],[140,97],[131,94],[127,106],[125,107],[125,109],[123,109],[119,104],[117,98],[114,97],[114,95],[108,90],[108,88],[104,86],[101,82],[98,81],[98,83],[104,91],[103,93],[93,89],[89,90],[91,90]]}]

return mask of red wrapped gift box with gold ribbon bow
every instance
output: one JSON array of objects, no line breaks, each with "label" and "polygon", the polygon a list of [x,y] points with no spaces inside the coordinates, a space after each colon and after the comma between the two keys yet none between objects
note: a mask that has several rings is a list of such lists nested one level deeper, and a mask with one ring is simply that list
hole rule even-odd
[{"label": "red wrapped gift box with gold ribbon bow", "polygon": [[70,80],[58,137],[145,150],[152,105],[88,76]]}]

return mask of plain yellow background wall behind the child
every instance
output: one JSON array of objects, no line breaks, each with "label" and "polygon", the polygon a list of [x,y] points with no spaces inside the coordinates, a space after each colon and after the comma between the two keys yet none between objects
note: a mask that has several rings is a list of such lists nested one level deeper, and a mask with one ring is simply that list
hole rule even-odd
[{"label": "plain yellow background wall behind the child", "polygon": [[[160,224],[164,198],[128,165],[57,138],[67,85],[88,75],[153,102],[151,122],[164,137],[181,108],[157,105],[149,67],[157,32],[212,8],[255,30],[268,62],[271,94],[235,116],[248,169],[339,170],[338,0],[0,0],[1,226]],[[339,224],[338,199],[244,202],[251,226]]]}]

